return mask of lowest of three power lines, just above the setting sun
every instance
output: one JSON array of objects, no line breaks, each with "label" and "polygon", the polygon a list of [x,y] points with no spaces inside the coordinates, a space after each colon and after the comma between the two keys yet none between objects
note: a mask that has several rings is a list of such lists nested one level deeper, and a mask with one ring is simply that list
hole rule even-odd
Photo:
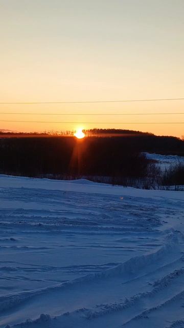
[{"label": "lowest of three power lines, just above the setting sun", "polygon": [[25,121],[25,120],[0,120],[0,122],[16,123],[49,123],[49,124],[184,124],[184,122],[60,122],[60,121]]}]

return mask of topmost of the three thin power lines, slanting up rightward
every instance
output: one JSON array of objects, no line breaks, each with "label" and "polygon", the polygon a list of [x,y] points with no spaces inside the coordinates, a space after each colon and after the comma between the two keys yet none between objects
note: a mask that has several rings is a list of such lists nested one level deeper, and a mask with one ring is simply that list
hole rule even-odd
[{"label": "topmost of the three thin power lines, slanting up rightward", "polygon": [[169,100],[184,100],[184,98],[93,100],[93,101],[27,101],[27,102],[16,102],[16,103],[0,103],[0,105],[131,103],[133,101],[169,101]]}]

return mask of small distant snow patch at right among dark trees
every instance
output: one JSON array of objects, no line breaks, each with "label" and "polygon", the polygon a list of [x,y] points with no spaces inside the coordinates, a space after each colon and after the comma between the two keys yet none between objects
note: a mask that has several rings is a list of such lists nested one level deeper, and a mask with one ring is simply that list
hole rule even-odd
[{"label": "small distant snow patch at right among dark trees", "polygon": [[169,169],[171,166],[178,164],[184,165],[184,156],[177,155],[160,155],[155,153],[144,153],[148,159],[157,161],[156,166],[161,170]]}]

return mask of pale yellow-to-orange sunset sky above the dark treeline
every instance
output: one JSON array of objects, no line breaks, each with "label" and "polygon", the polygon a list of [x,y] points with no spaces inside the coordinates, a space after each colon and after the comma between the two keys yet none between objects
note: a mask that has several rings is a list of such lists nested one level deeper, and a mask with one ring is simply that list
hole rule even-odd
[{"label": "pale yellow-to-orange sunset sky above the dark treeline", "polygon": [[[183,0],[0,0],[0,103],[184,97],[183,10]],[[176,113],[183,106],[184,100],[1,104],[0,128],[122,128],[181,137],[184,115]]]}]

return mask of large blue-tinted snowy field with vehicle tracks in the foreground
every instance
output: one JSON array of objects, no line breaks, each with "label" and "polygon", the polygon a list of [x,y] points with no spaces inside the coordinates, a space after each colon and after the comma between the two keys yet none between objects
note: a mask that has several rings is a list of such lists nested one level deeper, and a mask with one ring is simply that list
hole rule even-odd
[{"label": "large blue-tinted snowy field with vehicle tracks in the foreground", "polygon": [[184,327],[184,192],[1,175],[0,202],[0,327]]}]

